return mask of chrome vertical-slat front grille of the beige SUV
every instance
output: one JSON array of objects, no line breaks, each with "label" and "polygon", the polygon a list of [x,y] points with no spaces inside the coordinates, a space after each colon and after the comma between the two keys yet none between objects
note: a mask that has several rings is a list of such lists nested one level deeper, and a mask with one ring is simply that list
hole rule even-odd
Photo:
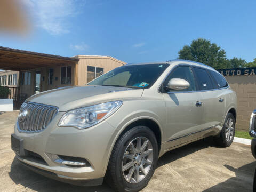
[{"label": "chrome vertical-slat front grille of the beige SUV", "polygon": [[57,113],[57,107],[24,102],[20,108],[18,129],[20,132],[41,132],[52,121]]}]

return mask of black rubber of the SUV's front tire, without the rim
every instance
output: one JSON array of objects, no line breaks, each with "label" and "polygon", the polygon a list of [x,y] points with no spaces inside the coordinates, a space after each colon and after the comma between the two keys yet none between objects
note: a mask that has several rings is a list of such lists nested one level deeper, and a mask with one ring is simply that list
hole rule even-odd
[{"label": "black rubber of the SUV's front tire, without the rim", "polygon": [[[150,168],[150,171],[146,175],[146,177],[140,181],[139,183],[129,183],[125,180],[124,175],[123,175],[123,170],[122,170],[122,163],[123,163],[123,155],[126,150],[126,147],[129,145],[129,143],[137,138],[137,137],[146,137],[147,139],[150,140],[152,147],[153,147],[153,163]],[[116,181],[118,182],[117,187],[119,188],[119,191],[138,191],[144,188],[149,180],[151,179],[152,175],[154,174],[154,171],[157,166],[157,159],[158,159],[158,146],[157,146],[157,141],[155,138],[154,133],[146,126],[137,126],[133,127],[131,130],[126,132],[123,137],[120,138],[122,141],[118,143],[119,145],[115,146],[118,149],[117,152],[117,158],[115,162],[115,173],[116,173]]]}]

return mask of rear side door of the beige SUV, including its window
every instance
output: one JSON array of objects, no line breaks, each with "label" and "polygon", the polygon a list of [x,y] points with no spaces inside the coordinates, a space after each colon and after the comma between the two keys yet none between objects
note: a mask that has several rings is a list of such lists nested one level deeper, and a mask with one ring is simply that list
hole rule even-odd
[{"label": "rear side door of the beige SUV, including its window", "polygon": [[223,91],[219,89],[218,83],[211,75],[211,73],[215,73],[215,71],[211,72],[211,70],[205,68],[193,67],[193,72],[198,90],[202,95],[203,129],[217,127],[223,120],[226,98]]}]

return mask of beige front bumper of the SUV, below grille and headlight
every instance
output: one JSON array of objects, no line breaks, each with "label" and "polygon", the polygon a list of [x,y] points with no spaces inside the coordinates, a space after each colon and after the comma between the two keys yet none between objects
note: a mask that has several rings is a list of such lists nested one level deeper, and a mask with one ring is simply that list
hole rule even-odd
[{"label": "beige front bumper of the SUV, below grille and headlight", "polygon": [[[114,140],[114,127],[107,121],[83,130],[58,127],[62,115],[59,112],[39,133],[21,133],[15,125],[14,134],[23,139],[23,148],[41,156],[45,163],[17,155],[19,161],[52,179],[83,186],[101,185]],[[84,158],[90,166],[60,165],[53,161],[51,154]]]}]

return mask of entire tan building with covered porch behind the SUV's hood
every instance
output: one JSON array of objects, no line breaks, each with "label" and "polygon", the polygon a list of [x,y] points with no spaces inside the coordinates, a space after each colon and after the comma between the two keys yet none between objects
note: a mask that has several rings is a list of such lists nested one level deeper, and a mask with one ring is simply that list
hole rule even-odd
[{"label": "entire tan building with covered porch behind the SUV's hood", "polygon": [[110,56],[61,57],[0,47],[0,69],[5,70],[0,72],[0,84],[18,87],[18,101],[22,102],[42,91],[85,85],[125,64]]}]

